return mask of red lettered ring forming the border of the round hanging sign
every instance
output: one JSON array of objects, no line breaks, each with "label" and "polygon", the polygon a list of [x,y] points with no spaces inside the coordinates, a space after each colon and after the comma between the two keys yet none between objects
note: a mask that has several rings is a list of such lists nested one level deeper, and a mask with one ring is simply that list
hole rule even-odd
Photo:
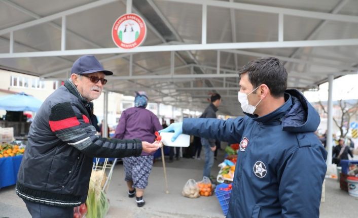
[{"label": "red lettered ring forming the border of the round hanging sign", "polygon": [[[127,16],[134,16],[136,17],[138,20],[140,20],[142,23],[143,23],[143,27],[140,28],[140,33],[139,33],[139,36],[137,38],[137,40],[135,40],[134,42],[137,42],[137,45],[136,46],[132,46],[130,48],[124,48],[124,47],[121,47],[121,44],[124,44],[124,45],[131,45],[132,43],[124,43],[121,41],[121,39],[119,39],[118,37],[118,33],[117,33],[117,29],[118,29],[118,26],[123,23],[124,21],[126,20],[129,20],[131,18],[127,18],[125,20],[123,20],[121,23],[119,23],[119,20],[121,20],[123,17],[127,17]],[[118,24],[118,25],[117,25]],[[117,28],[115,29],[115,27],[117,26]],[[139,25],[140,27],[140,25]],[[124,14],[122,16],[120,16],[116,22],[113,24],[112,26],[112,39],[113,39],[113,42],[116,44],[117,47],[121,48],[121,49],[133,49],[135,47],[138,47],[141,45],[141,43],[144,42],[144,39],[146,38],[146,35],[147,35],[147,25],[146,23],[144,22],[144,20],[139,16],[139,15],[136,15],[136,14]],[[134,43],[133,42],[133,43]]]}]

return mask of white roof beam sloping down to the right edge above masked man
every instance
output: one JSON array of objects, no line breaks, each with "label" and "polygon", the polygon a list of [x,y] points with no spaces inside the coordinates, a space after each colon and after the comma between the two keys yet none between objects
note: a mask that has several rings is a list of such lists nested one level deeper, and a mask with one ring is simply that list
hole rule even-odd
[{"label": "white roof beam sloping down to the right edge above masked man", "polygon": [[161,1],[177,2],[183,4],[207,5],[207,6],[214,6],[219,8],[232,8],[238,10],[265,12],[265,13],[272,13],[272,14],[283,14],[283,15],[290,15],[296,17],[315,18],[320,20],[334,20],[334,21],[358,23],[358,16],[331,14],[331,13],[324,13],[324,12],[313,12],[313,11],[279,8],[279,7],[271,7],[271,6],[223,2],[223,1],[214,1],[214,0],[195,0],[195,1],[161,0]]}]

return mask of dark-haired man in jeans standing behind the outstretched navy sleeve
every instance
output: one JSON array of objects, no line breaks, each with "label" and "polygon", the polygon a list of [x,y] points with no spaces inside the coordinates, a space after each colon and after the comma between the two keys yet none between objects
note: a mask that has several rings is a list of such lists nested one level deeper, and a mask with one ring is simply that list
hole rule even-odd
[{"label": "dark-haired man in jeans standing behind the outstretched navy sleeve", "polygon": [[[218,107],[221,104],[221,96],[217,93],[212,94],[210,101],[211,103],[209,106],[207,106],[207,108],[201,114],[201,118],[217,118],[216,112],[218,111]],[[211,167],[214,164],[214,151],[216,150],[217,146],[215,144],[215,140],[213,139],[201,138],[200,143],[204,148],[205,154],[203,176],[210,178]]]}]

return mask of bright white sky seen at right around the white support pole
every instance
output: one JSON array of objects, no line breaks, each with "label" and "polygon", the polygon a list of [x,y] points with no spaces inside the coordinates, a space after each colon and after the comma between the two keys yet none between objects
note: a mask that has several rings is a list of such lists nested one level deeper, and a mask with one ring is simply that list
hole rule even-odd
[{"label": "bright white sky seen at right around the white support pole", "polygon": [[[328,100],[328,82],[319,86],[319,91],[304,92],[309,102]],[[358,99],[358,74],[345,75],[333,80],[333,101]]]}]

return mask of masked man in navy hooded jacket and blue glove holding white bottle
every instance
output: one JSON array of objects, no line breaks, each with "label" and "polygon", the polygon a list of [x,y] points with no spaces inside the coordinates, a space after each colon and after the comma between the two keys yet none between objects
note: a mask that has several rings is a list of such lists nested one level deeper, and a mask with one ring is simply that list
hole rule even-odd
[{"label": "masked man in navy hooded jacket and blue glove holding white bottle", "polygon": [[238,100],[246,116],[184,119],[161,130],[240,143],[228,218],[319,217],[327,152],[315,136],[320,118],[297,90],[287,89],[277,58],[240,70]]}]

